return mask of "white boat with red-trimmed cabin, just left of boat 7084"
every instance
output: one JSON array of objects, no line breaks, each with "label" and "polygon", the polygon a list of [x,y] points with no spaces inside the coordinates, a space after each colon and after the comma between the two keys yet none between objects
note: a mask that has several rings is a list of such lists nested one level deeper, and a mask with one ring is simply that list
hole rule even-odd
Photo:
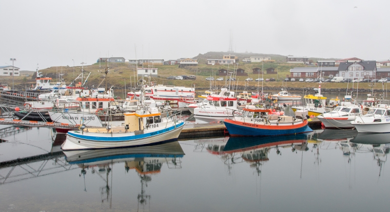
[{"label": "white boat with red-trimmed cabin, just left of boat 7084", "polygon": [[237,99],[234,97],[234,92],[227,88],[221,88],[219,94],[210,95],[206,100],[209,101],[209,105],[194,108],[195,117],[227,118],[229,115],[232,116],[234,110],[237,110]]}]

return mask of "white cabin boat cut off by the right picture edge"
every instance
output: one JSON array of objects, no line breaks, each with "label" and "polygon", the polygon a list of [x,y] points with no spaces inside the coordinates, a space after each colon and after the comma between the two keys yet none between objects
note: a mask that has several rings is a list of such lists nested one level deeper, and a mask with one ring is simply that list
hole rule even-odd
[{"label": "white cabin boat cut off by the right picture edge", "polygon": [[366,115],[356,116],[351,124],[359,133],[390,133],[390,109],[385,104],[371,107]]}]

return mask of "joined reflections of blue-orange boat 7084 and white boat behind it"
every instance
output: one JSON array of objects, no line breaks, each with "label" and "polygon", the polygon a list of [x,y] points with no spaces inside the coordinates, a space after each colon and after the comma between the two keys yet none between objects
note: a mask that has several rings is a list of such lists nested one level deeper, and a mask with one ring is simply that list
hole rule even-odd
[{"label": "joined reflections of blue-orange boat 7084 and white boat behind it", "polygon": [[206,149],[209,153],[217,155],[228,167],[231,174],[232,166],[236,163],[246,162],[255,168],[257,174],[261,173],[260,166],[269,160],[268,154],[275,149],[281,155],[280,148],[291,148],[292,152],[307,151],[307,134],[267,137],[226,137],[208,140],[197,140],[195,151]]}]

